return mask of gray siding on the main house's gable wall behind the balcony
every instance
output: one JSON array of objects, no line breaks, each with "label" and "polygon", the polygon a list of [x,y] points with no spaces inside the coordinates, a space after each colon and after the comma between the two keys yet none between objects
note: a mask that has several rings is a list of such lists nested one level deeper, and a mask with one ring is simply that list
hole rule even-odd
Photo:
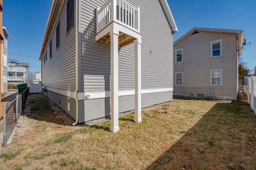
[{"label": "gray siding on the main house's gable wall behind the balcony", "polygon": [[[95,42],[95,7],[105,2],[82,1],[82,92],[110,90],[110,45]],[[172,88],[172,28],[160,0],[132,0],[129,3],[140,7],[142,89]],[[120,49],[118,57],[119,90],[134,90],[134,45]]]}]

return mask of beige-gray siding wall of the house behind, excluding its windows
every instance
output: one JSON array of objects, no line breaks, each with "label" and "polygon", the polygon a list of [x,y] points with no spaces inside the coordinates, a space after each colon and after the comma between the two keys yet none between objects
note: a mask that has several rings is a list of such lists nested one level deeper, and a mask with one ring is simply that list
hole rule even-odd
[{"label": "beige-gray siding wall of the house behind, excluding its windows", "polygon": [[[210,41],[218,39],[223,39],[223,56],[210,58]],[[175,86],[174,80],[174,94],[177,91],[207,93],[209,88],[237,88],[236,34],[201,31],[174,45],[174,51],[180,48],[183,48],[183,62],[174,63],[174,76],[175,72],[184,72],[184,83]],[[223,69],[222,86],[210,86],[210,69],[214,68]]]}]

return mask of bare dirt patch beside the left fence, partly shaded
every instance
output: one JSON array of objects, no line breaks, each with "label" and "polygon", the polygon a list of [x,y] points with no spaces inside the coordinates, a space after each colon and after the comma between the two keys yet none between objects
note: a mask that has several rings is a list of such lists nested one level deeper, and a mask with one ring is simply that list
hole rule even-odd
[{"label": "bare dirt patch beside the left fence, partly shaded", "polygon": [[[47,104],[49,108],[44,110],[42,114],[38,114],[38,112],[41,112],[44,108],[34,108],[36,107],[36,103],[39,103],[41,107]],[[54,104],[54,102],[49,100],[44,94],[30,94],[26,100],[24,111],[18,119],[14,138],[8,147],[12,147],[12,145],[16,145],[16,143],[20,143],[21,141],[33,142],[42,140],[42,135],[38,134],[38,131],[41,131],[41,129],[48,129],[48,133],[60,133],[68,129],[76,129],[79,127],[73,126],[72,123],[74,123],[74,119]]]}]

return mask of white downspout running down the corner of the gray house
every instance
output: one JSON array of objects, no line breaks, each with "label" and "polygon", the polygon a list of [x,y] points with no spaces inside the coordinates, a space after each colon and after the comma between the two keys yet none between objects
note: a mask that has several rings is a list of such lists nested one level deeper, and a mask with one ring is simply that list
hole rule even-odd
[{"label": "white downspout running down the corner of the gray house", "polygon": [[78,36],[80,35],[79,34],[79,31],[80,31],[80,20],[79,20],[79,15],[81,13],[81,7],[79,6],[80,4],[80,0],[76,0],[76,90],[74,92],[74,99],[76,100],[76,121],[72,124],[73,126],[76,125],[78,123],[78,116],[79,116],[79,103],[78,103],[78,98],[77,98],[77,92],[78,92],[78,55],[79,55],[79,50],[78,50],[78,46],[79,46],[79,38]]}]

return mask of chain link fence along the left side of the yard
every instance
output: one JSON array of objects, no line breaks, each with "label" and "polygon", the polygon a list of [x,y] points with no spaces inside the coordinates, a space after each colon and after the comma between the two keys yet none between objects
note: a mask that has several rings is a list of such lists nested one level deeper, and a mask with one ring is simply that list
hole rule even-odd
[{"label": "chain link fence along the left side of the yard", "polygon": [[12,135],[18,119],[25,107],[29,89],[27,88],[22,94],[17,95],[16,99],[3,106],[3,119],[0,120],[0,139],[2,146],[6,146],[7,140]]}]

